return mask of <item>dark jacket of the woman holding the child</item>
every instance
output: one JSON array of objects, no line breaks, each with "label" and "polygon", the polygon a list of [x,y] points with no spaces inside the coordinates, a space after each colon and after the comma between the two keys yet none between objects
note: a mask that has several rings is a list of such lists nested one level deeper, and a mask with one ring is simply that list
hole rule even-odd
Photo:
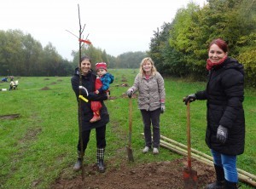
[{"label": "dark jacket of the woman holding the child", "polygon": [[[108,115],[108,109],[105,106],[103,100],[107,100],[108,96],[107,94],[95,94],[95,81],[96,81],[96,74],[93,72],[88,73],[86,76],[82,76],[82,85],[88,90],[89,95],[84,92],[84,90],[81,90],[81,94],[89,100],[89,102],[82,101],[82,130],[89,130],[94,129],[98,127],[102,127],[106,125],[109,122],[109,115]],[[74,76],[71,78],[72,88],[73,91],[76,94],[77,101],[79,102],[79,68],[76,68]],[[93,117],[93,112],[90,109],[90,101],[101,101],[102,102],[102,109],[100,111],[101,114],[101,120],[97,121],[95,123],[90,123],[90,119]],[[78,103],[79,105],[79,103]],[[78,114],[79,115],[79,114]]]}]

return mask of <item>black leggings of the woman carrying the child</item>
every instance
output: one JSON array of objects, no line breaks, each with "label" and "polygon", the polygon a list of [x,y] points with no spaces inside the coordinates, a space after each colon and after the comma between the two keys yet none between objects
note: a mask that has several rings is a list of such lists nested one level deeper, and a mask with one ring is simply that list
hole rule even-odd
[{"label": "black leggings of the woman carrying the child", "polygon": [[[90,130],[84,130],[82,132],[82,138],[83,138],[83,148],[85,151],[87,144],[90,140]],[[105,148],[106,147],[106,125],[96,128],[96,143],[97,143],[96,144],[97,148]],[[79,139],[79,144],[78,144],[78,151],[81,152],[80,139]]]}]

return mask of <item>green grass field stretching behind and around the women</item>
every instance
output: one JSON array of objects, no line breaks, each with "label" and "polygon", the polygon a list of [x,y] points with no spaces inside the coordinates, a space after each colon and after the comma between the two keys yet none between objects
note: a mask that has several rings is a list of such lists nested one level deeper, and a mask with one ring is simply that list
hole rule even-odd
[{"label": "green grass field stretching behind and around the women", "polygon": [[[111,85],[113,100],[106,101],[110,114],[107,127],[106,161],[119,167],[126,158],[128,140],[129,99],[123,98],[138,70],[109,70],[115,80]],[[15,78],[16,79],[16,78]],[[18,90],[0,91],[0,115],[20,113],[19,118],[0,119],[0,188],[49,188],[62,174],[67,179],[79,175],[72,170],[76,160],[79,137],[77,103],[70,77],[20,77]],[[125,79],[127,81],[125,81]],[[186,144],[186,94],[204,89],[206,83],[190,83],[181,79],[165,78],[166,112],[160,117],[161,135]],[[47,90],[43,90],[46,89]],[[0,83],[9,89],[9,83]],[[238,168],[256,174],[256,90],[246,89],[246,148],[238,156]],[[132,149],[135,163],[148,163],[181,158],[164,148],[159,156],[143,154],[143,123],[132,99]],[[192,147],[210,155],[205,144],[206,102],[191,104]],[[85,152],[85,162],[96,162],[95,131]],[[114,161],[112,161],[114,160]],[[252,188],[242,184],[242,188]]]}]

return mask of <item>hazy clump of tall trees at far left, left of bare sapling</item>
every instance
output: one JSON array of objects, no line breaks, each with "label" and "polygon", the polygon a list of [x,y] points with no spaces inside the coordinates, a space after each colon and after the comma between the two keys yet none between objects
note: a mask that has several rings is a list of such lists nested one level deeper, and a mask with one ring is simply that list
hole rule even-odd
[{"label": "hazy clump of tall trees at far left, left of bare sapling", "polygon": [[31,34],[0,31],[0,75],[65,76],[71,67],[51,43],[43,48]]}]

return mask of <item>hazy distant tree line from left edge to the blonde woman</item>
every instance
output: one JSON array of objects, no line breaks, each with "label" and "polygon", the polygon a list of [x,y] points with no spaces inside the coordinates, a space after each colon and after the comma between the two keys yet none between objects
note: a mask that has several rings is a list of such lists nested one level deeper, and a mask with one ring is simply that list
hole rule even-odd
[{"label": "hazy distant tree line from left edge to the blonde woman", "polygon": [[[137,68],[146,55],[129,52],[114,57],[93,45],[82,46],[85,54],[93,63],[107,62],[108,68]],[[0,76],[71,76],[79,66],[79,50],[73,50],[72,56],[72,61],[63,59],[51,43],[43,47],[31,34],[20,30],[0,30]]]}]

